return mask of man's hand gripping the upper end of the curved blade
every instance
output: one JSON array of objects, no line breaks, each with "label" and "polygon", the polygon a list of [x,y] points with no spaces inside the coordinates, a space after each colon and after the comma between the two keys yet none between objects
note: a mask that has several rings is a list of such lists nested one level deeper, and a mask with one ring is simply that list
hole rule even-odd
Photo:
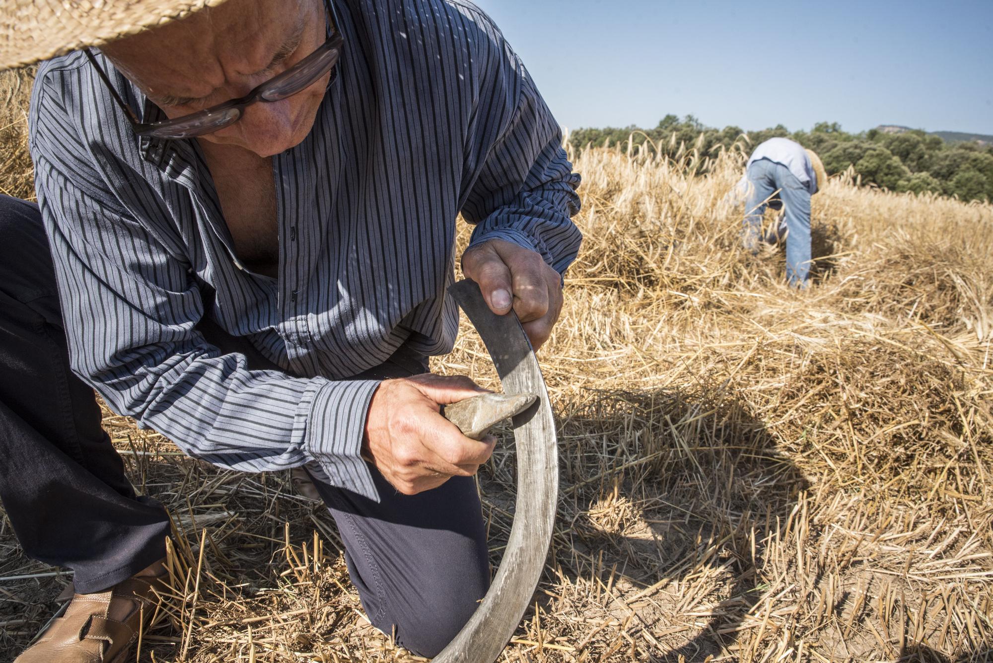
[{"label": "man's hand gripping the upper end of the curved blade", "polygon": [[562,311],[562,278],[539,254],[491,239],[462,255],[462,272],[497,316],[513,309],[535,350],[548,340]]}]

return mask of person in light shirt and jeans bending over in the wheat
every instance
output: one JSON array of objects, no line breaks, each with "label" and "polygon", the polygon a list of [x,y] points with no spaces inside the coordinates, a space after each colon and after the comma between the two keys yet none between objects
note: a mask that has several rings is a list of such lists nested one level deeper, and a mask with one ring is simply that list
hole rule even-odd
[{"label": "person in light shirt and jeans bending over in the wheat", "polygon": [[[810,273],[810,197],[827,182],[820,159],[788,138],[770,138],[748,160],[741,185],[746,187],[744,241],[756,250],[760,241],[786,242],[786,280],[805,288]],[[766,207],[781,209],[777,226],[765,236]]]}]

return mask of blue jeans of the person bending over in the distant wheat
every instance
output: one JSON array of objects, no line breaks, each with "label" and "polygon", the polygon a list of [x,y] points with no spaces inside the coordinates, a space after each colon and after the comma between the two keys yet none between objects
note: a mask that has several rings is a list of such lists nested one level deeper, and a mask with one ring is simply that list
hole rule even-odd
[{"label": "blue jeans of the person bending over in the distant wheat", "polygon": [[810,272],[810,192],[788,168],[768,159],[749,166],[747,176],[751,186],[745,205],[745,246],[756,247],[766,207],[780,200],[785,211],[786,280],[791,286],[805,287]]}]

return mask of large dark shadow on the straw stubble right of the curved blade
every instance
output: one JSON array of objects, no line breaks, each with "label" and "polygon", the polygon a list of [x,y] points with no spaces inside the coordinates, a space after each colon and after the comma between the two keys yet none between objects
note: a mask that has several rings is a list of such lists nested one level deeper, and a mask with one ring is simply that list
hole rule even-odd
[{"label": "large dark shadow on the straw stubble right of the curved blade", "polygon": [[[564,408],[550,566],[562,577],[546,580],[553,595],[565,584],[575,591],[565,601],[539,595],[538,605],[559,618],[599,609],[621,621],[637,597],[643,604],[626,631],[650,652],[644,660],[726,653],[771,582],[762,575],[763,542],[786,522],[806,480],[719,388],[588,392]],[[509,456],[497,453],[495,480],[483,484],[485,503],[501,512],[511,510]],[[640,600],[652,587],[659,591]],[[591,660],[609,645],[587,643]]]}]

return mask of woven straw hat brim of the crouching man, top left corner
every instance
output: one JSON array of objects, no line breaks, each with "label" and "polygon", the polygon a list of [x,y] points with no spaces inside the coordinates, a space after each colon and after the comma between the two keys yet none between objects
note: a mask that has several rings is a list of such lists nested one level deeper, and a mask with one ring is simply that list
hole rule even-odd
[{"label": "woven straw hat brim of the crouching man, top left corner", "polygon": [[100,46],[224,0],[2,0],[0,69]]}]

